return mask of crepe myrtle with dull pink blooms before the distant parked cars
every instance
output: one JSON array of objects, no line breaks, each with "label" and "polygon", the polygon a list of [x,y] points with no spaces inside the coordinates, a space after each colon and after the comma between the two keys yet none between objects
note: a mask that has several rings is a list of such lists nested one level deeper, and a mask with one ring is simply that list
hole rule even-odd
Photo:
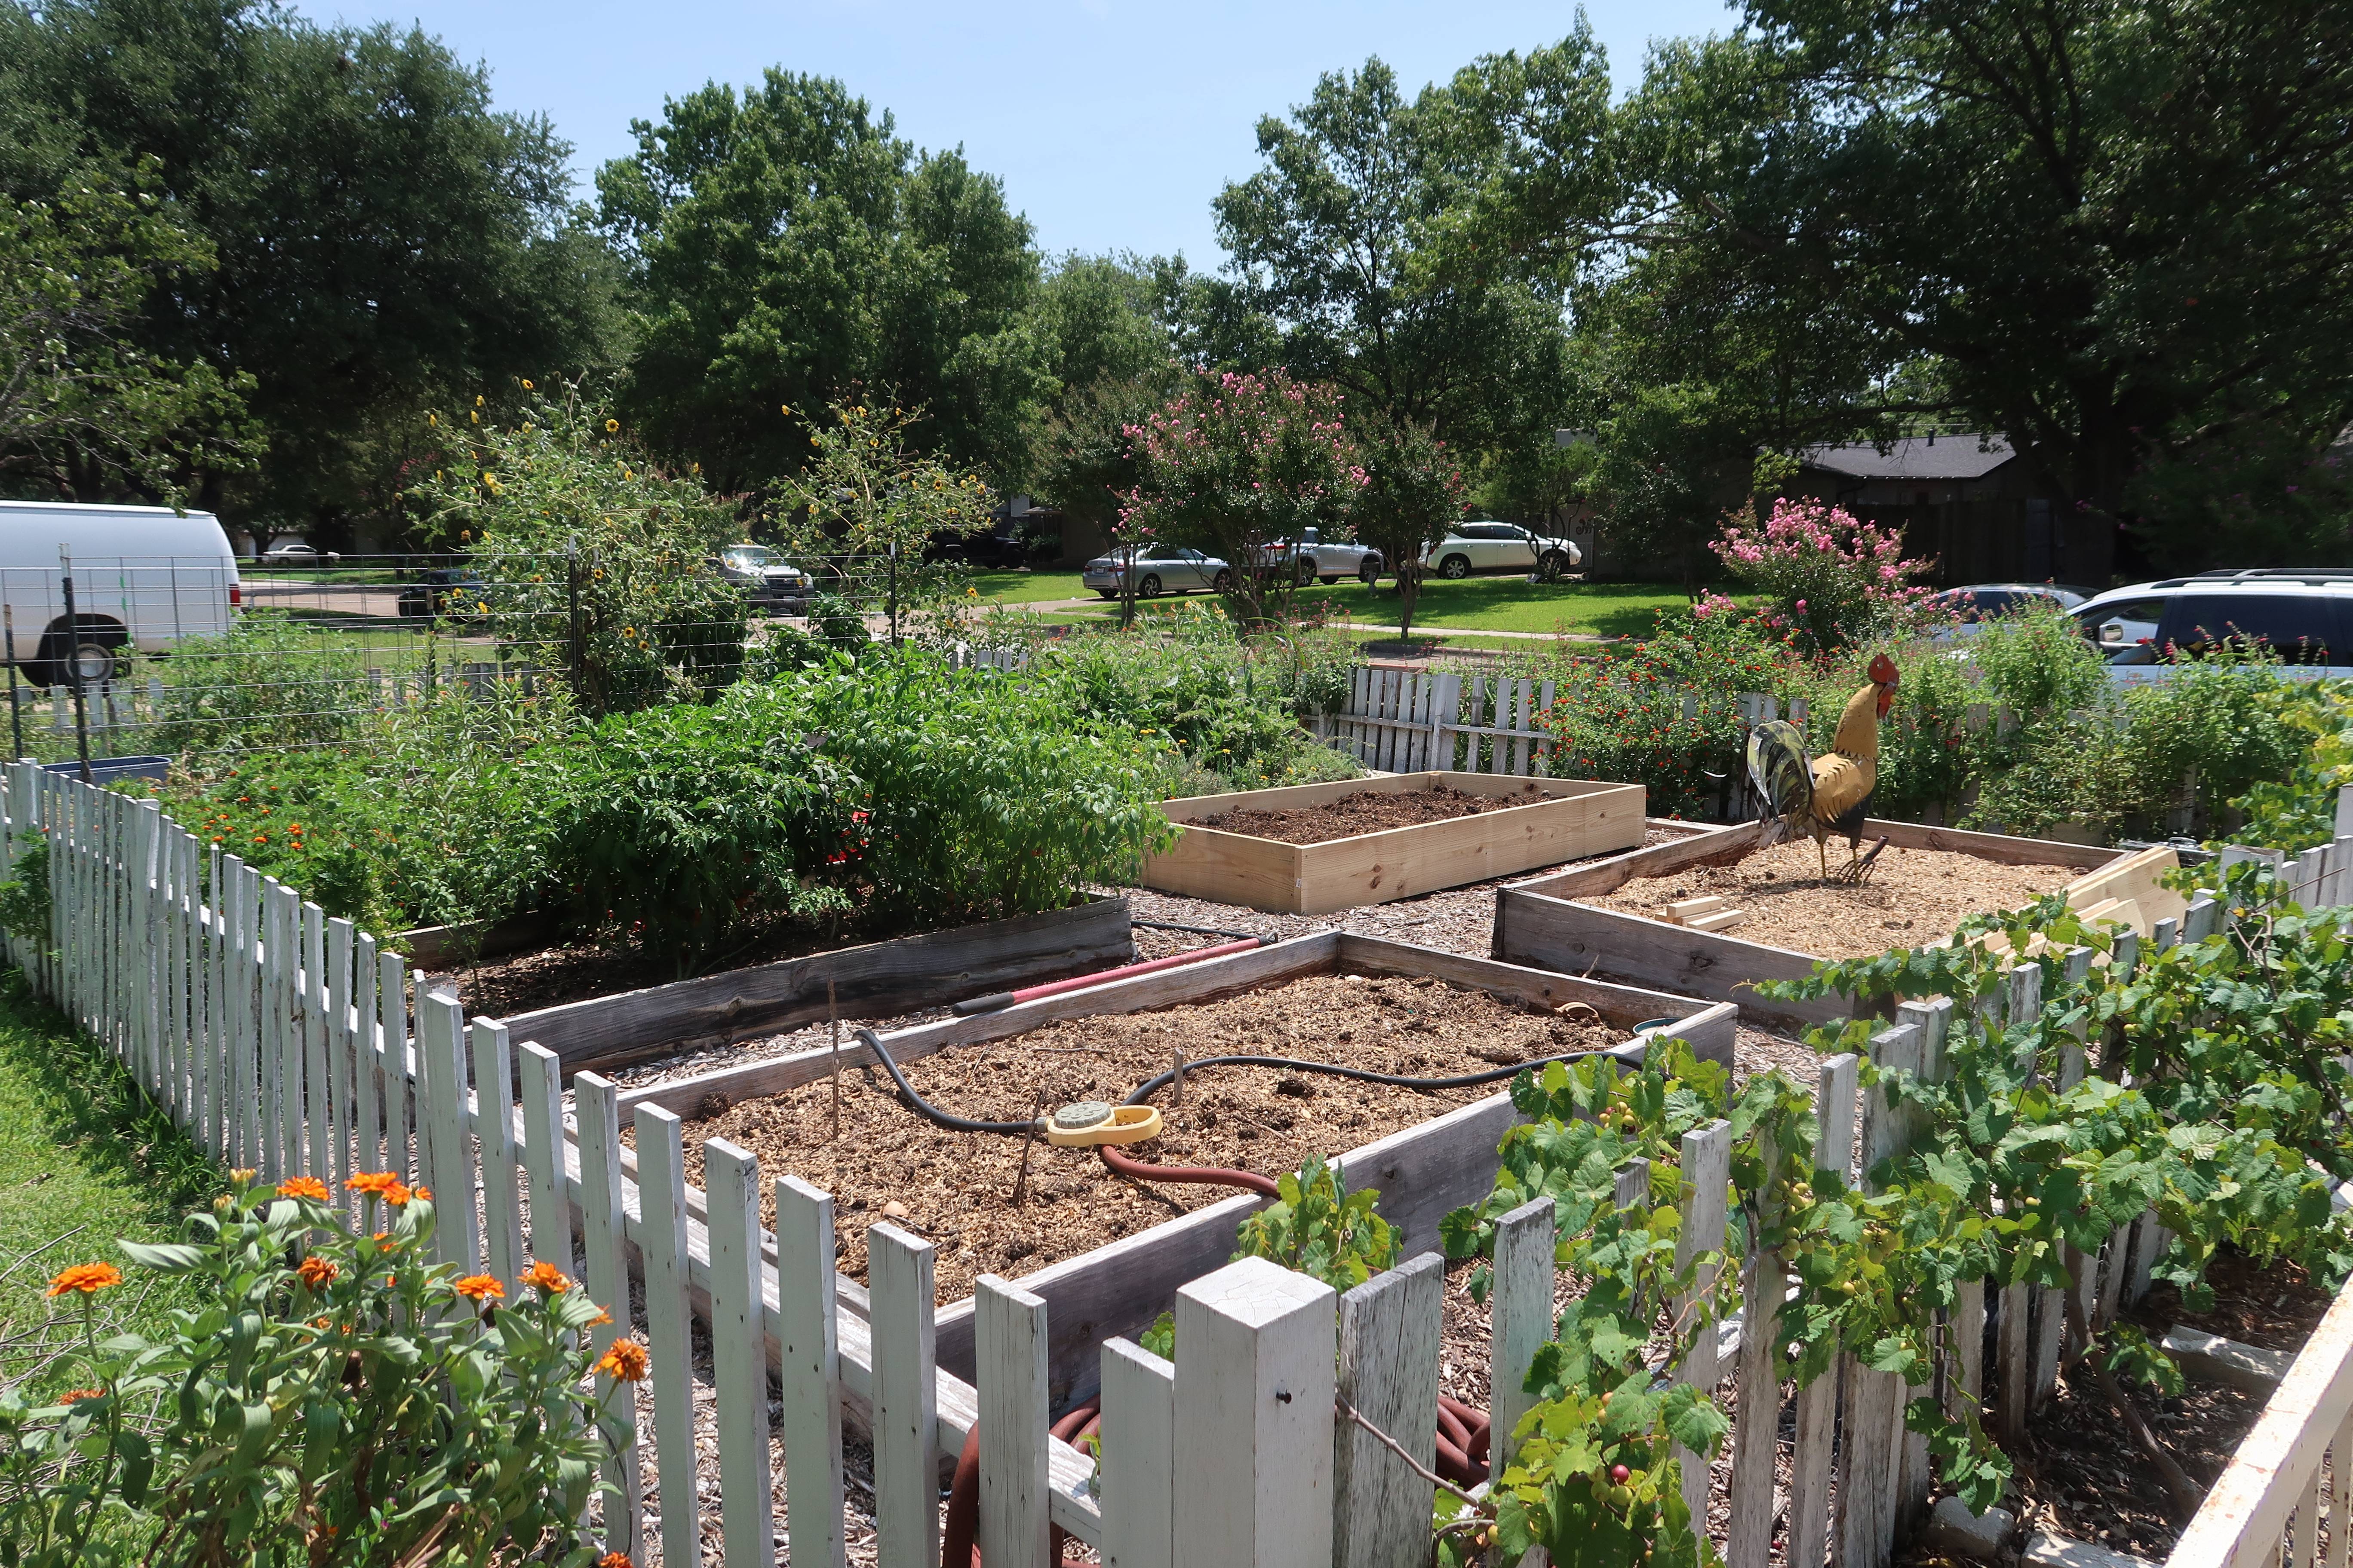
[{"label": "crepe myrtle with dull pink blooms before the distant parked cars", "polygon": [[1337,388],[1282,371],[1198,371],[1144,423],[1127,425],[1139,480],[1120,538],[1191,545],[1233,567],[1245,625],[1280,616],[1294,588],[1273,545],[1304,529],[1341,536],[1365,470]]}]

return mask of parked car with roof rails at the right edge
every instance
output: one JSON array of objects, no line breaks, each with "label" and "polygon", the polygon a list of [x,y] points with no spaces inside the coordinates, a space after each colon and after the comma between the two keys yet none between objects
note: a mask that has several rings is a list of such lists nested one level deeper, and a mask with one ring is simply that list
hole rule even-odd
[{"label": "parked car with roof rails at the right edge", "polygon": [[2353,675],[2353,571],[2202,571],[2113,588],[2073,614],[2125,686],[2167,679],[2167,649],[2231,644],[2264,646],[2294,675]]}]

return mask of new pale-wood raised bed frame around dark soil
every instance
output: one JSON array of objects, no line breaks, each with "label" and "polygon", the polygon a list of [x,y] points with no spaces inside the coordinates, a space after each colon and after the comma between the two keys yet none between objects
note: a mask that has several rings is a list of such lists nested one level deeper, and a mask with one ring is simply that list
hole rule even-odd
[{"label": "new pale-wood raised bed frame around dark soil", "polygon": [[1642,785],[1586,778],[1504,778],[1494,773],[1395,773],[1344,783],[1292,785],[1172,799],[1172,823],[1228,811],[1299,811],[1351,795],[1412,790],[1522,795],[1551,799],[1442,823],[1388,827],[1325,844],[1282,844],[1219,827],[1186,827],[1174,846],[1144,865],[1144,886],[1191,898],[1240,903],[1275,914],[1329,914],[1414,893],[1511,877],[1539,865],[1633,849],[1642,842]]}]

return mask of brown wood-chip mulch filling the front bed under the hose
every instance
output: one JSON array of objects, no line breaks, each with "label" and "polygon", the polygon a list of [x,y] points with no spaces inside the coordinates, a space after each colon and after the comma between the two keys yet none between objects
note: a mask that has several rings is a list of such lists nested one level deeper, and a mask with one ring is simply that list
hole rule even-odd
[{"label": "brown wood-chip mulch filling the front bed under the hose", "polygon": [[[906,1063],[918,1093],[960,1117],[1014,1121],[1068,1100],[1118,1103],[1165,1072],[1172,1053],[1292,1056],[1409,1077],[1454,1077],[1624,1041],[1579,1009],[1555,1016],[1431,978],[1311,976],[1224,1001],[1158,1013],[1078,1018],[1014,1039],[951,1046]],[[1158,1105],[1167,1131],[1129,1154],[1160,1164],[1233,1166],[1280,1175],[1308,1154],[1341,1154],[1457,1105],[1499,1093],[1414,1091],[1320,1074],[1217,1067],[1186,1074],[1184,1103]],[[840,1269],[866,1276],[866,1227],[892,1222],[939,1244],[939,1300],[972,1293],[976,1274],[1019,1276],[1233,1197],[1231,1187],[1129,1182],[1092,1150],[1028,1150],[1026,1201],[1012,1204],[1024,1143],[951,1133],[918,1119],[889,1079],[849,1070],[781,1095],[708,1110],[687,1126],[687,1175],[701,1185],[701,1145],[727,1138],[833,1192]],[[626,1135],[626,1133],[624,1133]],[[887,1215],[896,1204],[906,1213]],[[762,1215],[774,1222],[772,1213]]]}]

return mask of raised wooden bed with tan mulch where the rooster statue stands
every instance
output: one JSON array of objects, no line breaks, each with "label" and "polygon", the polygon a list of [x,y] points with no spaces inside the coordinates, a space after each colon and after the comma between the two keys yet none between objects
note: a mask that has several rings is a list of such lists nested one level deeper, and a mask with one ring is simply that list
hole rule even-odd
[{"label": "raised wooden bed with tan mulch where the rooster statue stands", "polygon": [[[1913,863],[1915,870],[1906,872],[1904,882],[1906,886],[1915,886],[1925,877],[1934,891],[1934,910],[1906,910],[1901,900],[1882,905],[1871,898],[1868,884],[1861,891],[1838,889],[1835,884],[1828,889],[1817,886],[1819,870],[1812,842],[1777,846],[1751,860],[1755,825],[1746,825],[1697,835],[1682,844],[1638,849],[1628,856],[1614,856],[1501,889],[1494,900],[1494,954],[1508,964],[1593,973],[1685,997],[1737,1001],[1741,1013],[1762,1027],[1795,1032],[1845,1018],[1852,1009],[1838,997],[1765,1001],[1755,994],[1758,980],[1798,980],[1828,957],[1925,947],[1944,940],[1953,933],[1960,914],[2002,907],[1998,898],[1991,898],[1991,891],[2000,882],[1998,867],[2033,872],[2031,877],[2002,884],[2021,893],[2012,903],[2024,903],[2024,896],[2040,882],[2049,889],[2071,889],[2068,898],[2078,907],[2097,905],[2104,900],[2106,882],[2094,882],[2094,875],[2113,870],[2122,872],[2125,884],[2141,896],[2146,907],[2139,914],[2144,922],[2177,912],[2177,905],[2167,907],[2160,903],[2153,870],[2148,870],[2172,851],[2127,856],[2125,851],[2087,844],[2014,839],[1993,832],[1882,820],[1866,823],[1864,837],[1866,844],[1878,837],[1887,839],[1880,867],[1899,851]],[[1845,844],[1833,846],[1833,856],[1842,851]],[[1746,877],[1762,889],[1767,886],[1762,872],[1774,870],[1777,882],[1786,882],[1781,863],[1793,853],[1802,858],[1805,870],[1805,877],[1798,879],[1800,896],[1814,907],[1812,917],[1805,919],[1805,929],[1814,943],[1821,943],[1821,947],[1835,945],[1838,952],[1800,947],[1798,940],[1788,945],[1751,940],[1746,929],[1739,933],[1694,931],[1626,907],[1649,905],[1664,910],[1673,900],[1675,889],[1701,891],[1706,886],[1704,877],[1727,879],[1727,886],[1739,886],[1739,879]],[[1918,860],[1913,860],[1915,856]],[[1941,860],[1927,856],[1939,856]],[[1873,882],[1882,875],[1887,872],[1873,870]],[[1946,886],[1962,886],[1958,903],[1967,907],[1955,907],[1955,898],[1946,896]],[[2078,900],[2078,891],[2085,898]],[[1852,922],[1845,926],[1826,924],[1821,919],[1821,900],[1840,896],[1852,900]],[[1798,910],[1802,907],[1807,905],[1798,905]],[[1904,919],[1913,924],[1904,926]],[[1889,922],[1897,924],[1889,929]]]}]

